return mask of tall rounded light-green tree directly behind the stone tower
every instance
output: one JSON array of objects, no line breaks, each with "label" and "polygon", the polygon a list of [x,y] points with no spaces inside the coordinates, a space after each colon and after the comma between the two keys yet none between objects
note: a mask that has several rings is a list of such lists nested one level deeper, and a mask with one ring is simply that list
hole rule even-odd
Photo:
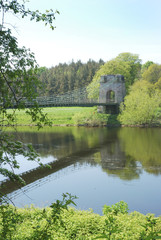
[{"label": "tall rounded light-green tree directly behind the stone tower", "polygon": [[125,79],[125,86],[128,92],[129,87],[139,77],[141,60],[138,55],[131,53],[120,53],[116,58],[106,62],[96,72],[92,82],[88,86],[89,98],[99,97],[100,77],[102,75],[121,74]]}]

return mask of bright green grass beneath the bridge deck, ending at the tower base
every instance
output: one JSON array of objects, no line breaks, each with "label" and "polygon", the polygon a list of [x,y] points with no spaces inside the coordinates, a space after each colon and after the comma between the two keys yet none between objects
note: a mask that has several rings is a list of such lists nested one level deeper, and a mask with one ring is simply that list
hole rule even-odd
[{"label": "bright green grass beneath the bridge deck, ending at the tower base", "polygon": [[[12,110],[8,110],[12,113]],[[117,115],[97,113],[97,107],[52,107],[44,108],[44,113],[53,125],[119,125]],[[30,116],[25,114],[25,110],[16,112],[17,125],[31,125]]]}]

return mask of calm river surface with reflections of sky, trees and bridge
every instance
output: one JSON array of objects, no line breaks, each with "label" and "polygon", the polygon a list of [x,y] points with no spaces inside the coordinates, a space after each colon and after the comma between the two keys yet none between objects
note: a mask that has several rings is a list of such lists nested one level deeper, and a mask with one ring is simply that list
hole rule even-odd
[{"label": "calm river surface with reflections of sky, trees and bridge", "polygon": [[[79,197],[78,209],[101,214],[104,204],[123,200],[130,211],[161,215],[161,129],[55,127],[17,138],[33,143],[52,168],[24,174],[20,190],[7,183],[15,205],[47,206],[68,192]],[[36,167],[18,159],[19,172]]]}]

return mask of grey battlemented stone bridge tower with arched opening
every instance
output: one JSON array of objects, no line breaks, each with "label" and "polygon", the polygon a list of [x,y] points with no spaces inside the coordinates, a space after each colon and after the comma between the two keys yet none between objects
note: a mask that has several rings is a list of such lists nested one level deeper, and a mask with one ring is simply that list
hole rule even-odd
[{"label": "grey battlemented stone bridge tower with arched opening", "polygon": [[123,75],[104,75],[100,80],[99,103],[104,106],[98,107],[98,112],[117,113],[119,105],[123,102],[126,94]]}]

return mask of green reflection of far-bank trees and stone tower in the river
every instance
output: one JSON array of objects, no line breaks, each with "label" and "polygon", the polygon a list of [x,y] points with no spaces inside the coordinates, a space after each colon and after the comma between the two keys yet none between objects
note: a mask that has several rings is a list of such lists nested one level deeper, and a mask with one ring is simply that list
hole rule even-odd
[{"label": "green reflection of far-bank trees and stone tower in the river", "polygon": [[59,159],[84,149],[95,149],[100,152],[102,168],[109,173],[129,167],[135,171],[141,164],[146,171],[161,174],[161,129],[57,127],[52,130],[21,132],[17,138],[31,142],[42,158],[52,155]]}]

